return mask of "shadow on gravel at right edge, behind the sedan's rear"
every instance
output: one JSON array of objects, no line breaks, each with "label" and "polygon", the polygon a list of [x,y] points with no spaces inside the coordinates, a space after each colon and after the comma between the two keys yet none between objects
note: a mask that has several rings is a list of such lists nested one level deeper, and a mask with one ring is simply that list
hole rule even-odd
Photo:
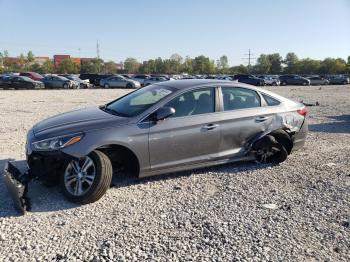
[{"label": "shadow on gravel at right edge, behind the sedan's rear", "polygon": [[322,133],[350,133],[350,115],[329,116],[330,122],[310,124],[309,131]]}]

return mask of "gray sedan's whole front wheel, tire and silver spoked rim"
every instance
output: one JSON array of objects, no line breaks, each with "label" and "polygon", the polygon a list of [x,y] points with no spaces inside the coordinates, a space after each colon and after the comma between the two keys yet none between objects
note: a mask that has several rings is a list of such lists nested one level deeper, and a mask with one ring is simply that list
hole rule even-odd
[{"label": "gray sedan's whole front wheel, tire and silver spoked rim", "polygon": [[73,159],[61,176],[63,194],[71,202],[95,202],[109,188],[112,173],[111,161],[101,151],[95,150],[84,158]]}]

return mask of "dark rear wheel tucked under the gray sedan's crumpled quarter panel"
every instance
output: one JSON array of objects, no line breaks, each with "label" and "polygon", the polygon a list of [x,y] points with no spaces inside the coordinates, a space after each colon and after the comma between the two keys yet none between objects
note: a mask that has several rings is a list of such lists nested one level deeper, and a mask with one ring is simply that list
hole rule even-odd
[{"label": "dark rear wheel tucked under the gray sedan's crumpled quarter panel", "polygon": [[287,150],[272,135],[266,135],[253,145],[255,159],[259,163],[278,164],[288,157]]}]

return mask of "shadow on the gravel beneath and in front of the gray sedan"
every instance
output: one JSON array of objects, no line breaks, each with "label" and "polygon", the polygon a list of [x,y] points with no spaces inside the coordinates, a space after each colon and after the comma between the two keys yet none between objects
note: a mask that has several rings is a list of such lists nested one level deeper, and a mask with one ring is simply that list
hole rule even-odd
[{"label": "shadow on the gravel beneath and in front of the gray sedan", "polygon": [[[20,216],[20,213],[15,209],[10,194],[7,191],[6,185],[3,179],[3,169],[7,161],[13,161],[13,159],[2,159],[0,160],[0,218],[2,217],[14,217]],[[26,167],[26,162],[15,161],[16,166],[23,171]],[[145,184],[145,183],[155,183],[157,181],[164,181],[168,179],[176,179],[179,177],[188,177],[194,174],[201,173],[219,173],[222,174],[232,174],[239,173],[243,171],[254,171],[258,169],[264,169],[270,167],[270,164],[257,164],[254,162],[237,162],[231,164],[222,164],[218,166],[211,166],[207,168],[199,168],[194,170],[169,173],[164,175],[158,175],[153,177],[141,178],[141,179],[131,179],[131,178],[113,178],[112,187],[121,188],[128,187],[131,185]],[[35,212],[54,212],[59,210],[66,210],[79,207],[79,204],[74,204],[67,201],[60,192],[58,186],[46,187],[40,184],[39,181],[32,181],[29,183],[28,197],[31,202],[31,213]]]}]

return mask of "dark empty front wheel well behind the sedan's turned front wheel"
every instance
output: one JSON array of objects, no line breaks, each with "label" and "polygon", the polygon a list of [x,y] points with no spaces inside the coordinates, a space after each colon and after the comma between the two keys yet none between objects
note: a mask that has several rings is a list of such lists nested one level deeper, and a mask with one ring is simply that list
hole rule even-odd
[{"label": "dark empty front wheel well behind the sedan's turned front wheel", "polygon": [[96,150],[105,153],[112,162],[113,173],[122,169],[127,177],[138,177],[140,172],[139,160],[129,148],[121,145],[104,145]]}]

